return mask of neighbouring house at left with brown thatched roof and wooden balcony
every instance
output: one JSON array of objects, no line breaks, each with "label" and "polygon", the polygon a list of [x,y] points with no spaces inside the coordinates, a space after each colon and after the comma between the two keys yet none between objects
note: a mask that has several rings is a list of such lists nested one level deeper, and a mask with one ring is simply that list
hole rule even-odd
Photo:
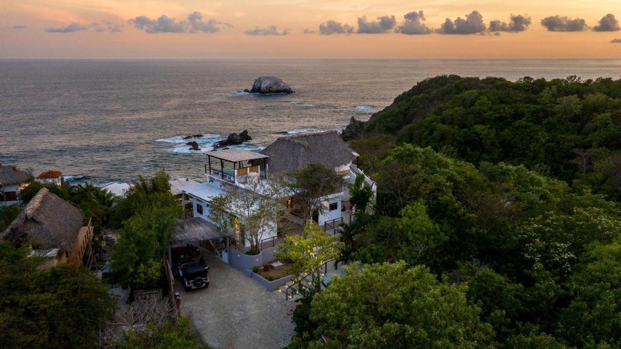
[{"label": "neighbouring house at left with brown thatched roof and wooden balcony", "polygon": [[44,258],[40,269],[62,263],[90,267],[93,225],[82,211],[42,188],[2,233],[4,240],[27,241]]}]

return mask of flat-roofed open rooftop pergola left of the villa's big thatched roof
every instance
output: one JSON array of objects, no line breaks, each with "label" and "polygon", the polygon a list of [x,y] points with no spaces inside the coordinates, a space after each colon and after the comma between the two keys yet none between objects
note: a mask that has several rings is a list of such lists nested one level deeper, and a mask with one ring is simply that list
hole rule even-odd
[{"label": "flat-roofed open rooftop pergola left of the villa's big thatched roof", "polygon": [[[267,176],[269,156],[243,149],[223,149],[208,152],[205,173],[235,183],[235,179],[248,173],[261,173],[261,165]],[[209,168],[208,168],[209,167]],[[209,172],[207,172],[209,170]]]}]

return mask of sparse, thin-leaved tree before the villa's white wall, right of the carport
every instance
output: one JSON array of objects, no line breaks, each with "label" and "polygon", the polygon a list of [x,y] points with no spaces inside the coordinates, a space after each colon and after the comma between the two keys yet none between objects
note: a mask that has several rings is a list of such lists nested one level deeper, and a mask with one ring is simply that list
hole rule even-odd
[{"label": "sparse, thin-leaved tree before the villa's white wall, right of the carport", "polygon": [[274,232],[285,214],[285,191],[278,180],[247,181],[227,185],[224,194],[210,201],[209,218],[224,231],[238,229],[249,252],[261,252],[263,235]]}]

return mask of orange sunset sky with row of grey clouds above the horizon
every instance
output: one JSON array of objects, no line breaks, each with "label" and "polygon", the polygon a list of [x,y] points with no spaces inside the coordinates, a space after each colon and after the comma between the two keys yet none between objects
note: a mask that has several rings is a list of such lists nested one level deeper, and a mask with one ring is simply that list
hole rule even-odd
[{"label": "orange sunset sky with row of grey clouds above the horizon", "polygon": [[619,0],[5,0],[0,18],[0,58],[621,58]]}]

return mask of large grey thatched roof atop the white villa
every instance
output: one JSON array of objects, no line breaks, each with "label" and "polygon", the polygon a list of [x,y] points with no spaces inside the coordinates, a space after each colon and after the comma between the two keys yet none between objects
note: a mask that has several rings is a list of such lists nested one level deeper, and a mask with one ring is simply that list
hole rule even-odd
[{"label": "large grey thatched roof atop the white villa", "polygon": [[270,156],[271,173],[291,173],[311,163],[322,163],[327,168],[336,169],[356,158],[336,131],[281,137],[261,153]]}]

